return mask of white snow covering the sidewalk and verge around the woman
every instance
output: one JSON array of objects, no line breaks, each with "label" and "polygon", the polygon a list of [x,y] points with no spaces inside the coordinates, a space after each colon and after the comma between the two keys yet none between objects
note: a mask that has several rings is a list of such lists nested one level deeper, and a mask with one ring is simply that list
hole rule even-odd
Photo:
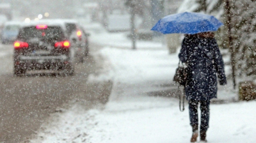
[{"label": "white snow covering the sidewalk and verge around the woman", "polygon": [[[97,31],[97,26],[94,28]],[[109,102],[103,109],[86,111],[76,105],[52,115],[51,122],[44,123],[31,142],[189,142],[188,104],[180,112],[178,99],[149,96],[177,88],[170,86],[179,62],[177,54],[168,55],[158,47],[161,43],[153,42],[138,43],[138,50],[131,50],[122,33],[91,33],[92,41],[107,45],[97,54],[112,66],[106,75],[114,80]],[[102,76],[90,80],[104,79]],[[220,87],[220,99],[236,98],[230,85]],[[212,104],[209,142],[255,142],[255,106],[255,101]]]}]

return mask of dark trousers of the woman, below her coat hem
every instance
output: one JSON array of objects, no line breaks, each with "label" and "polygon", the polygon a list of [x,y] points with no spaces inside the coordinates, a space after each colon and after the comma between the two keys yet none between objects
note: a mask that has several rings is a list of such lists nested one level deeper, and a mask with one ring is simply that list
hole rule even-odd
[{"label": "dark trousers of the woman, below her coat hem", "polygon": [[210,116],[210,101],[198,101],[198,100],[189,100],[189,119],[190,125],[194,130],[198,130],[198,103],[200,103],[201,109],[201,124],[200,132],[206,132],[209,128],[209,116]]}]

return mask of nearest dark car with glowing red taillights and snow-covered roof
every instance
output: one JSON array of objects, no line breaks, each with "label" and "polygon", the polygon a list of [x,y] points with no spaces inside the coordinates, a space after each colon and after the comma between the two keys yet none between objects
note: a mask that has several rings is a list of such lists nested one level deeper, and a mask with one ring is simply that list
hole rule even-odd
[{"label": "nearest dark car with glowing red taillights and snow-covered roof", "polygon": [[54,70],[74,75],[74,45],[60,22],[30,22],[20,27],[14,47],[14,75]]}]

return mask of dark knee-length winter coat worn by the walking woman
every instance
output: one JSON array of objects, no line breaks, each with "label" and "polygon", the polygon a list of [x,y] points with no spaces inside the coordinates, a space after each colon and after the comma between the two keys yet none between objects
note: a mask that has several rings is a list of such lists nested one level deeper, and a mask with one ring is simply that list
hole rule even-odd
[{"label": "dark knee-length winter coat worn by the walking woman", "polygon": [[217,98],[217,77],[221,85],[227,84],[224,63],[215,38],[186,36],[182,41],[180,61],[188,65],[185,86],[187,100]]}]

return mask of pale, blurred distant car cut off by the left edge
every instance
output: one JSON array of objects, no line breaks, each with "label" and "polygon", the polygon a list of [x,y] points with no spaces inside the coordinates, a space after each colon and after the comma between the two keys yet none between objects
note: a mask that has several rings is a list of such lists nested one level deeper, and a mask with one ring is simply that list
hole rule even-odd
[{"label": "pale, blurred distant car cut off by the left edge", "polygon": [[1,42],[3,44],[13,43],[16,40],[20,29],[20,22],[6,22],[1,32]]}]

